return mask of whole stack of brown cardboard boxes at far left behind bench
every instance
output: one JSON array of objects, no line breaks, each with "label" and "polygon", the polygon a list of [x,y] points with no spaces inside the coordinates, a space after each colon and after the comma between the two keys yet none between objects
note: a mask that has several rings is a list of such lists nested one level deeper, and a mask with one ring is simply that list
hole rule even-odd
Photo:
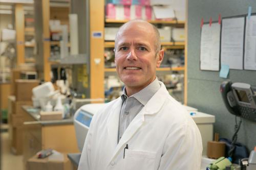
[{"label": "whole stack of brown cardboard boxes at far left behind bench", "polygon": [[14,154],[22,154],[23,148],[23,122],[27,114],[23,105],[32,105],[32,88],[39,85],[38,80],[20,79],[20,72],[24,70],[13,69],[12,71],[12,96],[9,96],[9,124],[11,136],[11,150]]}]

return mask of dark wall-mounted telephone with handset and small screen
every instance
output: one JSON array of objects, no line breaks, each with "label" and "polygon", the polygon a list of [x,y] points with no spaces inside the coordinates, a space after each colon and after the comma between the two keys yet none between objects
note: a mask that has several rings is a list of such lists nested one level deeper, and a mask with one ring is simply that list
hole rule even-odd
[{"label": "dark wall-mounted telephone with handset and small screen", "polygon": [[256,89],[246,83],[222,82],[222,99],[231,114],[256,122]]}]

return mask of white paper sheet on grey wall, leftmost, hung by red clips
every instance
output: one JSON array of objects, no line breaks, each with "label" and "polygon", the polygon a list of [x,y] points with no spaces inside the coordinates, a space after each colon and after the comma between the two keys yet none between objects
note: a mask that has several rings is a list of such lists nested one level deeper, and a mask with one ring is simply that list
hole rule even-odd
[{"label": "white paper sheet on grey wall, leftmost, hung by red clips", "polygon": [[220,34],[221,25],[204,24],[201,31],[200,69],[220,70]]}]

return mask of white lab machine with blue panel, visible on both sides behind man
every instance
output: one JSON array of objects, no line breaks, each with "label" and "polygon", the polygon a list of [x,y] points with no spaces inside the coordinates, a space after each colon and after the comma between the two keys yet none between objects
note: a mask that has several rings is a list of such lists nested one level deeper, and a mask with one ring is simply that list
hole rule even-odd
[{"label": "white lab machine with blue panel, visible on both sides behind man", "polygon": [[[78,149],[82,152],[84,140],[86,139],[87,132],[90,127],[92,117],[97,113],[104,104],[87,104],[80,107],[74,115],[74,125],[76,131],[76,139]],[[190,116],[197,124],[203,142],[203,155],[207,152],[207,142],[212,141],[214,133],[215,116],[198,112],[196,108],[184,106]],[[205,160],[204,160],[205,159]],[[205,157],[202,158],[202,162],[207,161]],[[208,163],[208,162],[207,162]]]}]

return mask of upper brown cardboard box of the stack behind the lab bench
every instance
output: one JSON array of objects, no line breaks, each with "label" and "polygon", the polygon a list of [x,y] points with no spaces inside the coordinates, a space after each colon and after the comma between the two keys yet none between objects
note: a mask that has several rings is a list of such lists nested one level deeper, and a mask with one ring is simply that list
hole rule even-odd
[{"label": "upper brown cardboard box of the stack behind the lab bench", "polygon": [[32,89],[39,85],[39,80],[15,80],[16,101],[32,101]]}]

